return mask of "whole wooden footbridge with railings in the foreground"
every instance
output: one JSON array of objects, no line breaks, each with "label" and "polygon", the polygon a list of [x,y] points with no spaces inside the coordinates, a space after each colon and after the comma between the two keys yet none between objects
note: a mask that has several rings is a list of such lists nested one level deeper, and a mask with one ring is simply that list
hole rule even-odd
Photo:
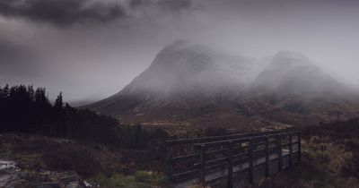
[{"label": "whole wooden footbridge with railings in the foreground", "polygon": [[174,187],[242,187],[301,162],[301,132],[250,132],[167,141]]}]

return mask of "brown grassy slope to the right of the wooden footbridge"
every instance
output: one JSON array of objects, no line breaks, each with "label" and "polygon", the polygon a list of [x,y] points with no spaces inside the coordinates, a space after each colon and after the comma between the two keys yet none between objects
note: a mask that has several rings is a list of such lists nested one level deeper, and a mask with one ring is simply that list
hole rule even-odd
[{"label": "brown grassy slope to the right of the wooden footbridge", "polygon": [[275,187],[359,187],[359,119],[305,127],[302,164],[274,177]]}]

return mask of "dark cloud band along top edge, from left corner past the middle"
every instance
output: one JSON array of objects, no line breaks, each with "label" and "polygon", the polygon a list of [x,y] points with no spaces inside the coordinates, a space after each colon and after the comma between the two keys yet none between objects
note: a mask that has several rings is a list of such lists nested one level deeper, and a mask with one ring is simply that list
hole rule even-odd
[{"label": "dark cloud band along top edge, from left corner past the middle", "polygon": [[131,17],[131,9],[176,13],[190,8],[192,0],[0,0],[0,14],[8,18],[47,22],[57,26],[116,21]]}]

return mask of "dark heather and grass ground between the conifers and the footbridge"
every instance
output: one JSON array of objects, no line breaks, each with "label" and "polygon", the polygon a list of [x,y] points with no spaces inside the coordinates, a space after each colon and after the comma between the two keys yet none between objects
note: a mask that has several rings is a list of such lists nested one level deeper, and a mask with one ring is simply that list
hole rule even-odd
[{"label": "dark heather and grass ground between the conifers and the footbridge", "polygon": [[168,187],[164,157],[159,145],[128,150],[39,134],[0,133],[0,159],[15,161],[21,170],[17,182],[23,184],[15,187],[38,187],[48,178],[57,182],[66,175],[80,175],[92,187]]}]

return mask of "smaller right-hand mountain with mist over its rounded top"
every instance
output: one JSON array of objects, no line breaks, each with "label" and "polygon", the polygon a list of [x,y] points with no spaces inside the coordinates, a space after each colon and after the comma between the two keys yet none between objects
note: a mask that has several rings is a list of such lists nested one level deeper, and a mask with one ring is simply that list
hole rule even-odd
[{"label": "smaller right-hand mountain with mist over its rounded top", "polygon": [[320,124],[359,115],[358,90],[296,52],[277,53],[249,93],[268,109],[258,108],[258,114],[285,124]]}]

